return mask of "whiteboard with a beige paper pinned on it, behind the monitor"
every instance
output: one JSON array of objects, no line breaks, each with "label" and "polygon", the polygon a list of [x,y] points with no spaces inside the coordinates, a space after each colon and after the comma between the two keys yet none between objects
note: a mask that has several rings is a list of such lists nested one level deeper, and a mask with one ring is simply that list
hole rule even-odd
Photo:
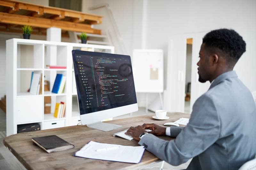
[{"label": "whiteboard with a beige paper pinned on it, behind the monitor", "polygon": [[162,49],[134,49],[132,70],[136,92],[164,91],[164,52]]}]

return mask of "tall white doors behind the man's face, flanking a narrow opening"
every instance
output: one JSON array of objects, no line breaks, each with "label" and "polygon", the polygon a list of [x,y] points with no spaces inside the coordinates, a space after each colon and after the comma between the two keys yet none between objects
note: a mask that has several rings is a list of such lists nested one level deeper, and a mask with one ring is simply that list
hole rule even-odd
[{"label": "tall white doors behind the man's face, flanking a narrow opening", "polygon": [[207,32],[173,35],[168,43],[167,85],[164,94],[164,108],[171,112],[184,113],[186,83],[187,39],[192,38],[190,113],[196,99],[206,92],[210,83],[198,82],[198,53],[202,39]]}]

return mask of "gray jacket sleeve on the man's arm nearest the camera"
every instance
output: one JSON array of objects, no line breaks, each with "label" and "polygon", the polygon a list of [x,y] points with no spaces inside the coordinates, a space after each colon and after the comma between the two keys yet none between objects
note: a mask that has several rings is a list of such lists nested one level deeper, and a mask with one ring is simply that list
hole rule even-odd
[{"label": "gray jacket sleeve on the man's arm nearest the camera", "polygon": [[203,95],[196,100],[189,123],[177,134],[176,139],[171,141],[147,134],[139,144],[144,145],[159,159],[174,166],[204,152],[220,136],[219,116],[210,97]]}]

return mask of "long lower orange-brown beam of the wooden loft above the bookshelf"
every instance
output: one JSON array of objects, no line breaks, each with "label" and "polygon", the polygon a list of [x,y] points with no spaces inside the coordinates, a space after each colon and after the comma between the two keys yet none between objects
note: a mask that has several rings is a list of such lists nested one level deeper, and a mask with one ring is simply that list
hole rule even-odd
[{"label": "long lower orange-brown beam of the wooden loft above the bookshelf", "polygon": [[0,22],[7,24],[29,25],[41,28],[58,27],[67,31],[101,34],[101,30],[92,29],[91,26],[87,24],[8,14],[4,12],[0,12]]}]

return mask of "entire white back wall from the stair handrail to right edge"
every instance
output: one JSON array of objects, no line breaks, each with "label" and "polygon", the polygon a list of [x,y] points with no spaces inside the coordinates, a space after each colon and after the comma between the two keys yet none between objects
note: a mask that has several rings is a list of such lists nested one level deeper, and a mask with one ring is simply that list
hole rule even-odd
[{"label": "entire white back wall from the stair handrail to right edge", "polygon": [[[256,58],[253,57],[256,55],[254,49],[256,41],[255,0],[88,1],[90,7],[105,3],[110,5],[128,55],[132,54],[132,49],[142,48],[143,42],[146,43],[145,48],[164,50],[164,89],[166,89],[166,75],[170,74],[167,73],[167,45],[170,36],[208,32],[218,28],[236,30],[246,41],[247,51],[237,63],[235,70],[238,77],[251,91],[256,90],[256,79],[251,78],[256,73],[256,69],[254,69]],[[146,10],[143,9],[143,6],[146,6]],[[104,15],[103,22],[110,22],[106,11],[90,12]],[[144,14],[145,12],[146,14]],[[104,30],[106,27],[102,25],[101,28]],[[146,35],[144,36],[143,33]],[[156,95],[149,94],[149,103],[155,97]],[[145,93],[138,94],[137,98],[139,106],[145,106]]]}]

